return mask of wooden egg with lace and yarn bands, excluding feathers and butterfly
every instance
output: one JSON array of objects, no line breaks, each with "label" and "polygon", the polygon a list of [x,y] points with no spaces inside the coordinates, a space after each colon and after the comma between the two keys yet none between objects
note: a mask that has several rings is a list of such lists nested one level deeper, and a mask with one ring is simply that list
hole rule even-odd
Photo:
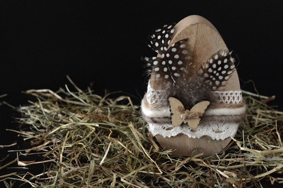
[{"label": "wooden egg with lace and yarn bands, excluding feathers and butterfly", "polygon": [[[212,55],[220,49],[223,53],[229,52],[228,48],[219,32],[208,20],[198,15],[191,15],[181,20],[176,24],[167,48],[172,49],[172,45],[187,38],[189,40],[186,50],[191,53],[187,64],[195,64],[194,72],[198,72],[200,67],[206,66],[206,63],[209,65],[210,58],[211,62],[224,63],[217,61],[218,55]],[[157,58],[164,56],[166,55],[158,54]],[[224,59],[224,61],[227,60]],[[212,66],[214,67],[213,64]],[[157,68],[159,71],[159,67]],[[166,67],[165,69],[167,70]],[[210,70],[208,69],[209,72]],[[192,154],[192,151],[194,154],[203,153],[205,156],[221,152],[231,141],[231,137],[236,134],[240,120],[245,115],[245,103],[242,99],[237,71],[233,69],[223,87],[211,91],[217,97],[217,102],[214,102],[214,106],[208,105],[203,116],[198,117],[200,124],[196,129],[190,127],[189,123],[172,127],[172,110],[170,113],[168,101],[168,98],[172,97],[172,92],[168,92],[168,82],[157,78],[158,71],[153,69],[151,73],[147,93],[141,103],[141,111],[148,122],[149,131],[156,137],[161,147],[166,150],[172,149],[172,156],[188,156]],[[219,72],[222,71],[225,71],[223,67]],[[184,80],[182,83],[186,84],[186,80],[192,79],[191,75],[186,74],[185,71],[182,74]],[[217,79],[220,78],[221,76],[217,75]],[[224,80],[224,78],[221,79]],[[190,113],[189,110],[187,112]]]}]

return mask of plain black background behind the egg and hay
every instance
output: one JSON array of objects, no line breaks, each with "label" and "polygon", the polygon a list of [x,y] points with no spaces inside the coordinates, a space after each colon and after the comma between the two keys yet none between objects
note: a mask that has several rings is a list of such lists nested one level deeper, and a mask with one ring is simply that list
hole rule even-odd
[{"label": "plain black background behind the egg and hay", "polygon": [[[93,83],[99,95],[122,90],[141,98],[147,78],[140,58],[156,55],[147,34],[201,15],[240,57],[242,89],[255,92],[253,80],[260,94],[276,95],[270,104],[282,110],[282,2],[1,1],[0,95],[8,96],[0,101],[18,106],[27,104],[21,91],[73,89],[66,75],[81,89]],[[13,143],[16,134],[4,131],[15,127],[13,110],[0,110],[0,145]]]}]

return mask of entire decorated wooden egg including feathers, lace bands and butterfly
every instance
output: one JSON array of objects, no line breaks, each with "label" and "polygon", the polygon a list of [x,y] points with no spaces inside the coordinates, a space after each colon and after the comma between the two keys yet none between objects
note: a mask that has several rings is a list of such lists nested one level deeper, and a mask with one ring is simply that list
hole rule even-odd
[{"label": "entire decorated wooden egg including feathers, lace bands and butterfly", "polygon": [[158,55],[144,58],[151,73],[141,112],[172,156],[221,152],[245,118],[237,58],[205,18],[192,15],[149,35]]}]

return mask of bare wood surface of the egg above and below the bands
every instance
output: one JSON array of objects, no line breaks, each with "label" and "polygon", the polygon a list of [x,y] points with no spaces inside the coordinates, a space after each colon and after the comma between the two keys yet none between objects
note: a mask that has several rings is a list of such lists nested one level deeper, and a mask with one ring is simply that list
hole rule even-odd
[{"label": "bare wood surface of the egg above and below the bands", "polygon": [[[170,45],[185,38],[189,38],[189,46],[193,55],[192,61],[199,65],[205,63],[211,54],[220,48],[228,50],[217,29],[208,20],[198,15],[188,16],[177,23]],[[160,54],[157,57],[161,57]],[[190,75],[187,76],[189,78]],[[154,74],[151,75],[150,82],[153,89],[165,88],[164,83],[156,80]],[[240,91],[237,71],[233,72],[233,75],[227,81],[226,86],[221,88],[221,91]],[[192,150],[195,150],[195,154],[203,153],[205,156],[217,154],[231,141],[231,138],[212,141],[207,136],[189,138],[184,134],[170,138],[156,135],[156,139],[163,148],[174,150],[172,152],[173,156],[187,156]]]}]

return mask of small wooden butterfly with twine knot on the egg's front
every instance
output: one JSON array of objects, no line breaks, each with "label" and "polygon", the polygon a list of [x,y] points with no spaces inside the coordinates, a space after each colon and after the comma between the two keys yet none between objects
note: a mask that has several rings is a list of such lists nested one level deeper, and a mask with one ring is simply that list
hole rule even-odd
[{"label": "small wooden butterfly with twine knot on the egg's front", "polygon": [[181,125],[183,122],[188,123],[193,129],[198,127],[200,117],[203,116],[204,110],[210,104],[209,101],[202,101],[192,107],[191,110],[185,110],[184,105],[178,99],[169,97],[171,121],[174,127]]}]

